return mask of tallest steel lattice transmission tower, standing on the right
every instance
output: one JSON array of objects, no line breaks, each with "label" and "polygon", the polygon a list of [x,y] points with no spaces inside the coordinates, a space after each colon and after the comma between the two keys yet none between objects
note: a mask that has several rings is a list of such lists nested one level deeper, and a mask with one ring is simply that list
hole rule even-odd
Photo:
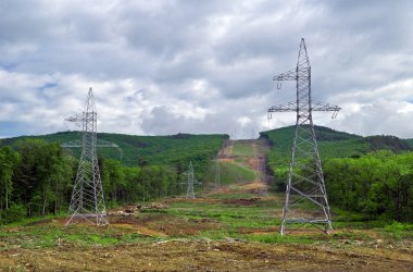
[{"label": "tallest steel lattice transmission tower, standing on the right", "polygon": [[280,234],[292,232],[305,224],[328,232],[333,230],[322,163],[313,125],[313,111],[331,111],[333,119],[341,109],[334,104],[313,102],[311,99],[311,66],[304,39],[301,39],[297,67],[274,76],[277,88],[283,81],[297,83],[297,100],[268,109],[273,112],[297,112],[296,136],[289,166],[286,199],[283,207]]}]

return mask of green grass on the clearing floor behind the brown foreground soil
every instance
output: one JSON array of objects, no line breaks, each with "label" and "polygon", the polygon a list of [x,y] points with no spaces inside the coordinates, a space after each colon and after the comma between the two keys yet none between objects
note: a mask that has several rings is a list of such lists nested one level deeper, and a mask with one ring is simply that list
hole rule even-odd
[{"label": "green grass on the clearing floor behind the brown foreground soil", "polygon": [[[130,243],[153,243],[157,240],[189,238],[189,239],[213,239],[226,240],[238,239],[243,242],[258,242],[266,244],[321,244],[341,245],[342,240],[371,243],[376,239],[368,233],[370,230],[384,239],[393,240],[412,239],[413,225],[389,222],[368,222],[360,214],[349,213],[338,209],[333,209],[334,227],[336,232],[331,235],[286,235],[278,233],[280,224],[279,213],[281,208],[279,201],[274,199],[260,199],[251,206],[242,206],[236,201],[239,198],[254,197],[253,194],[230,193],[211,196],[218,198],[218,202],[191,202],[190,200],[174,201],[170,208],[161,210],[162,213],[171,215],[177,220],[190,222],[193,220],[204,220],[214,222],[218,227],[201,231],[192,236],[175,235],[170,237],[148,237],[138,233],[127,233],[122,228],[113,226],[95,227],[72,225],[64,227],[61,224],[41,224],[38,222],[26,222],[25,225],[8,225],[0,227],[0,240],[7,246],[0,250],[11,250],[15,246],[23,248],[55,248],[62,246],[73,246],[89,248],[92,246],[126,245]],[[154,217],[160,210],[149,210],[141,217]],[[50,220],[49,220],[50,221]],[[168,221],[164,223],[167,224]],[[171,221],[173,222],[173,221]],[[160,222],[162,224],[162,222]],[[247,230],[247,232],[246,232]],[[352,231],[349,231],[352,230]],[[359,232],[360,230],[361,232]]]}]

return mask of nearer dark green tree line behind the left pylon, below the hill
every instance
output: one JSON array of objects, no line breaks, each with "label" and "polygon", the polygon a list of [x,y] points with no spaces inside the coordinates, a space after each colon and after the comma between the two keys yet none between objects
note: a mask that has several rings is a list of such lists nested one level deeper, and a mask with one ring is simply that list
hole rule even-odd
[{"label": "nearer dark green tree line behind the left pylon, below the hill", "polygon": [[[0,148],[0,223],[66,212],[77,165],[78,159],[55,143],[24,139]],[[124,166],[99,157],[99,165],[109,207],[177,195],[186,181],[184,163]]]}]

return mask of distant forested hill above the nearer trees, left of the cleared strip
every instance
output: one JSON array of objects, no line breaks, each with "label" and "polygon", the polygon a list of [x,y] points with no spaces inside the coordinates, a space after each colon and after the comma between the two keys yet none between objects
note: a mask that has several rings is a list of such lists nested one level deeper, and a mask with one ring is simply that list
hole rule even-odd
[{"label": "distant forested hill above the nearer trees, left of the cleared strip", "polygon": [[[63,144],[80,139],[79,132],[60,132],[42,136],[22,136],[0,140],[0,146],[12,146],[20,139],[42,139],[48,143]],[[192,161],[203,161],[216,156],[228,135],[191,135],[176,134],[171,136],[136,136],[124,134],[99,133],[98,139],[118,145],[122,149],[124,165],[177,165]],[[115,148],[99,148],[104,158],[120,160],[120,151]],[[76,153],[77,154],[77,153]],[[197,162],[195,162],[197,163]]]}]

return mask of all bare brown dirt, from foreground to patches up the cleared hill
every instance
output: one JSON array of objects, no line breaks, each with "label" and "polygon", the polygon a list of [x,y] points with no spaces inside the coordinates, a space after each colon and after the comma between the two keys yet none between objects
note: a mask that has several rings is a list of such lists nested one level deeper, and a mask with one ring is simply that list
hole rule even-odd
[{"label": "all bare brown dirt, from foreground to patches up the cleared hill", "polygon": [[[222,160],[231,160],[233,144],[223,150]],[[253,147],[256,148],[256,147]],[[254,152],[246,161],[252,169],[263,165],[263,157]],[[259,158],[259,159],[256,159]],[[237,185],[237,191],[264,191],[264,178],[258,176],[251,184]],[[214,194],[231,194],[231,185]],[[213,198],[209,194],[197,199],[168,198],[162,205],[183,203],[175,211],[186,212],[190,205],[225,206],[230,209],[258,209],[263,202],[277,203],[277,196],[252,195],[251,198]],[[186,208],[187,206],[189,208]],[[272,209],[272,208],[271,208]],[[253,215],[253,214],[252,214]],[[271,217],[279,218],[280,209],[274,209]],[[209,217],[185,218],[174,213],[141,212],[134,217],[111,215],[108,227],[87,226],[92,233],[105,237],[137,235],[139,242],[121,244],[82,244],[73,240],[53,240],[53,245],[36,246],[29,242],[42,239],[47,232],[59,230],[80,235],[82,225],[65,228],[65,219],[45,220],[30,227],[38,233],[20,235],[17,242],[11,236],[0,235],[1,271],[413,271],[413,244],[411,240],[386,242],[374,231],[341,230],[328,235],[316,236],[311,243],[260,243],[230,237],[208,238],[202,232],[225,227],[224,222]],[[7,234],[24,233],[28,226],[10,226]],[[86,227],[86,226],[85,226]],[[240,226],[240,235],[277,236],[278,227]],[[0,230],[1,231],[1,230]],[[88,231],[87,231],[88,232]],[[365,240],[348,239],[349,236],[368,237]],[[85,234],[86,236],[87,234]],[[109,234],[108,234],[109,235]],[[297,232],[299,238],[313,235]]]}]

